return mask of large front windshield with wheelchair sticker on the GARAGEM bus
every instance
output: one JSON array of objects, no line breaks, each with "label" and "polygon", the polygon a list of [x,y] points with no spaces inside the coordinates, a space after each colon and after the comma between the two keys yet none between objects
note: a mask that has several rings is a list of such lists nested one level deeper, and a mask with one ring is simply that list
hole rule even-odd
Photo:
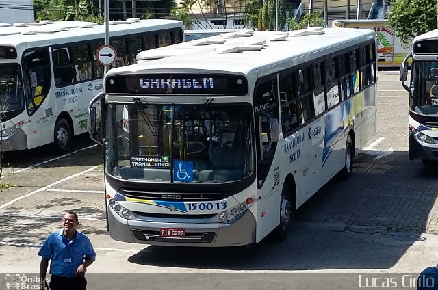
[{"label": "large front windshield with wheelchair sticker on the GARAGEM bus", "polygon": [[249,105],[111,104],[107,172],[156,182],[245,179],[255,170],[251,112]]}]

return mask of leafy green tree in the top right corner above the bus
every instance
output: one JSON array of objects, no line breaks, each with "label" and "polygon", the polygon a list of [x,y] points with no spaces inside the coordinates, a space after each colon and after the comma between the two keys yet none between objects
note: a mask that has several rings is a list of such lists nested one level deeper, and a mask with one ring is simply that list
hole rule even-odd
[{"label": "leafy green tree in the top right corner above the bus", "polygon": [[389,23],[401,40],[437,28],[437,0],[391,1]]}]

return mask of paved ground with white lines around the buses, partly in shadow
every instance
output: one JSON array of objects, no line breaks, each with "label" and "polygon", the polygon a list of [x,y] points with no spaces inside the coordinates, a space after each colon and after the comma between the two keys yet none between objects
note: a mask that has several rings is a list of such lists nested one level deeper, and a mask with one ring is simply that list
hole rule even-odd
[{"label": "paved ground with white lines around the buses, partly in shadow", "polygon": [[[15,156],[3,181],[18,186],[0,192],[0,273],[38,272],[38,245],[60,227],[62,213],[74,210],[98,254],[90,274],[125,273],[119,278],[91,275],[93,289],[123,289],[116,287],[118,282],[145,277],[154,281],[155,289],[172,285],[230,289],[242,282],[248,288],[266,289],[270,286],[263,282],[263,274],[273,272],[318,273],[269,276],[271,287],[278,289],[355,289],[359,274],[367,272],[415,277],[438,260],[437,170],[407,158],[408,100],[398,75],[381,74],[378,81],[378,133],[355,159],[355,174],[346,182],[331,181],[311,198],[300,209],[296,229],[285,242],[187,249],[112,241],[105,231],[99,150],[83,150],[31,168],[26,167],[31,164],[27,159]],[[18,165],[13,164],[16,160]],[[128,274],[180,272],[198,276]],[[250,275],[205,276],[216,272]],[[323,274],[333,272],[350,274]],[[298,282],[290,285],[291,277]]]}]

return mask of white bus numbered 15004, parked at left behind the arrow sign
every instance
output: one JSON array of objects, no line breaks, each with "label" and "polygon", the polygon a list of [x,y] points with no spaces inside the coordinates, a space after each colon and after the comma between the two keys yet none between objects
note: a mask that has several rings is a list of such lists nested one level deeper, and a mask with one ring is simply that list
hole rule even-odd
[{"label": "white bus numbered 15004, parked at left behind the arrow sign", "polygon": [[[88,103],[103,90],[96,49],[104,42],[104,30],[104,25],[75,21],[0,28],[0,150],[53,142],[65,153],[73,135],[86,133]],[[144,49],[182,41],[181,21],[110,22],[115,67],[133,64]]]}]

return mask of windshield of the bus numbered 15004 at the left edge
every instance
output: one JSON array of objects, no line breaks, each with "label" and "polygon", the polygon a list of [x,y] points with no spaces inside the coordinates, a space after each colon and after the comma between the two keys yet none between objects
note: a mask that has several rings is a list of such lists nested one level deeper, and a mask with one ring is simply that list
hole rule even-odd
[{"label": "windshield of the bus numbered 15004 at the left edge", "polygon": [[24,109],[23,92],[20,66],[0,64],[0,111],[3,113],[22,111]]}]

